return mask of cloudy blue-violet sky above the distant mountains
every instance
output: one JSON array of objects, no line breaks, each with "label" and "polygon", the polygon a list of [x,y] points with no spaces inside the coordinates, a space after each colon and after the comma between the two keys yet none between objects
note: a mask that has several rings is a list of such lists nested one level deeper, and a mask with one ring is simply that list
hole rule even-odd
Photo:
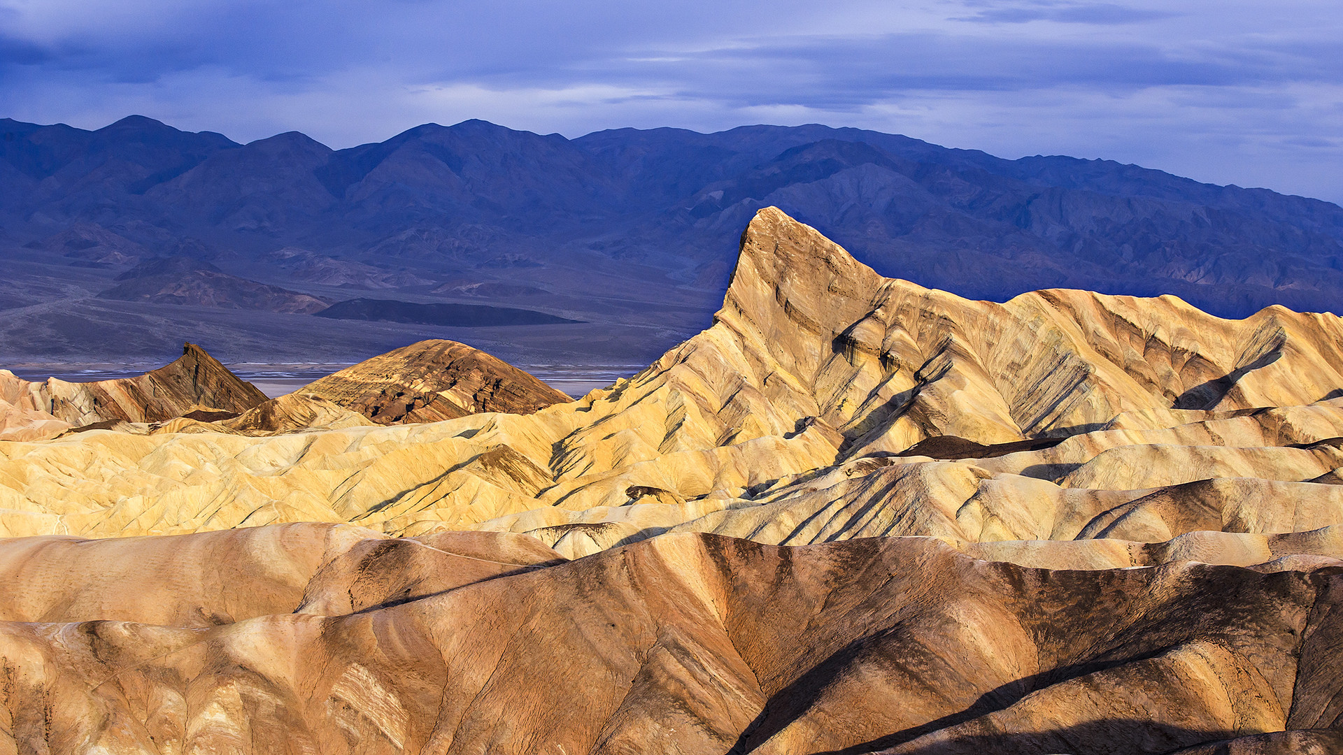
[{"label": "cloudy blue-violet sky above the distant mountains", "polygon": [[0,0],[0,117],[858,126],[1343,203],[1338,0]]}]

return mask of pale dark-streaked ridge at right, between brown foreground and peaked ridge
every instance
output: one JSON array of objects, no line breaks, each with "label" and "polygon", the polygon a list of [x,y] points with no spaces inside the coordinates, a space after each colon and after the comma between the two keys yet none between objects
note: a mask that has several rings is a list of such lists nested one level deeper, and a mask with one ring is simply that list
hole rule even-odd
[{"label": "pale dark-streaked ridge at right, between brown foreground and peaked ridge", "polygon": [[[620,506],[535,509],[478,527],[529,532],[571,558],[673,528],[782,544],[1297,532],[1343,523],[1343,486],[1324,484],[1343,466],[1339,433],[1343,414],[1331,400],[1162,430],[1101,430],[987,459],[864,457],[740,497],[630,489],[639,494]],[[1082,485],[1082,474],[1123,484]]]}]

